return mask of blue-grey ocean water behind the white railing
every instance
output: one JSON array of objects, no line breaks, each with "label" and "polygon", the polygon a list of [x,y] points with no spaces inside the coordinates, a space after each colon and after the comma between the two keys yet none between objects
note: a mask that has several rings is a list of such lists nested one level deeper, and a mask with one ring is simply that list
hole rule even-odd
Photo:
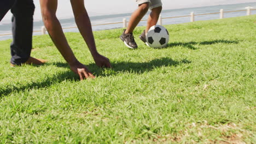
[{"label": "blue-grey ocean water behind the white railing", "polygon": [[[174,17],[174,16],[185,16],[190,15],[193,11],[194,14],[206,14],[206,13],[218,13],[220,9],[224,9],[224,11],[233,11],[233,10],[246,10],[246,7],[256,8],[256,3],[241,3],[241,4],[229,4],[229,5],[214,5],[208,7],[196,7],[196,8],[183,8],[183,9],[169,9],[162,10],[161,16],[164,17]],[[132,11],[131,11],[132,12]],[[237,16],[245,16],[246,11],[238,11],[232,13],[224,13],[224,18],[228,17],[237,17]],[[103,23],[115,23],[122,22],[125,18],[129,21],[129,18],[132,13],[125,14],[115,14],[115,15],[101,15],[101,16],[91,16],[91,24],[98,25]],[[251,10],[251,14],[255,15],[256,10]],[[90,15],[90,14],[89,14]],[[143,17],[143,20],[146,20],[149,13]],[[203,20],[213,20],[219,19],[219,14],[212,15],[199,15],[195,16],[195,21],[203,21]],[[146,26],[147,21],[141,21],[138,26]],[[173,19],[162,19],[162,25],[171,25],[176,23],[185,23],[190,22],[190,17],[178,17]],[[62,28],[75,27],[75,21],[73,18],[71,19],[61,19],[60,23]],[[43,26],[42,21],[34,21],[33,31],[40,31]],[[92,26],[93,31],[101,31],[103,29],[114,29],[123,27],[123,23],[117,23],[112,25],[101,25],[101,26]],[[63,29],[64,32],[78,32],[77,28]],[[12,35],[2,35],[2,34],[10,34],[11,33],[11,23],[0,22],[0,40],[11,39]],[[33,35],[40,35],[41,32],[34,32]]]}]

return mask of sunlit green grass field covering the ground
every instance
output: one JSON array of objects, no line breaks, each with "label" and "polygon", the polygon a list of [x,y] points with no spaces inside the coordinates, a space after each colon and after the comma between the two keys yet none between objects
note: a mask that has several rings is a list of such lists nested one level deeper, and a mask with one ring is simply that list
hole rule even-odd
[{"label": "sunlit green grass field covering the ground", "polygon": [[98,68],[79,33],[79,81],[49,35],[33,37],[40,67],[10,67],[0,41],[0,143],[256,143],[256,15],[166,25],[170,44],[130,50],[122,29],[94,32],[113,69]]}]

